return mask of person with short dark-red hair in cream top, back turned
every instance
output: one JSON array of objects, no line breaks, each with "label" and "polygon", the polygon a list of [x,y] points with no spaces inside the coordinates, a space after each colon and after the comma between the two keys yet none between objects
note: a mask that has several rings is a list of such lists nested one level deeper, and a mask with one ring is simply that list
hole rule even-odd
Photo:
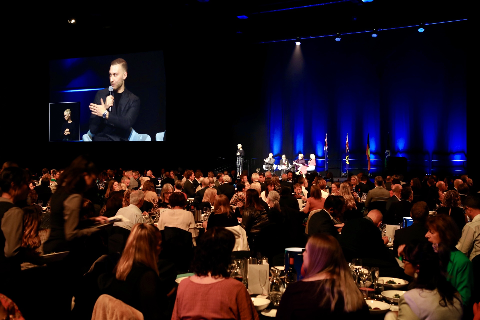
[{"label": "person with short dark-red hair in cream top, back turned", "polygon": [[158,219],[158,229],[163,230],[165,227],[180,228],[189,231],[192,234],[192,242],[195,244],[195,238],[198,236],[197,225],[190,211],[186,211],[185,205],[187,201],[183,194],[173,192],[170,196],[171,209],[165,210]]}]

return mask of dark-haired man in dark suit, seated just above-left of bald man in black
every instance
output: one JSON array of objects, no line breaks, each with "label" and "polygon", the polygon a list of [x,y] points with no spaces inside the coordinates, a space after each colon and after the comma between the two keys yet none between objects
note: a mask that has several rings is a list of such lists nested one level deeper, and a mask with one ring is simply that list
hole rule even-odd
[{"label": "dark-haired man in dark suit, seated just above-left of bald man in black", "polygon": [[317,213],[313,213],[308,220],[307,234],[324,233],[333,237],[338,237],[338,230],[333,222],[333,218],[342,213],[345,201],[340,196],[328,196],[324,202],[324,208]]}]

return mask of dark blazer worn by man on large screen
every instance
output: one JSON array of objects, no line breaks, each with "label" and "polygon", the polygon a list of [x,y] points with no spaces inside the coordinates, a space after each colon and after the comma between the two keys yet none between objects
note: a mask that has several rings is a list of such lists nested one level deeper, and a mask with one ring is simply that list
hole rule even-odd
[{"label": "dark blazer worn by man on large screen", "polygon": [[[105,103],[108,88],[97,91],[94,102],[100,105],[100,99]],[[140,99],[125,88],[120,101],[114,101],[108,119],[90,115],[90,132],[96,138],[108,138],[112,141],[128,141],[130,128],[135,123],[140,111]]]}]

